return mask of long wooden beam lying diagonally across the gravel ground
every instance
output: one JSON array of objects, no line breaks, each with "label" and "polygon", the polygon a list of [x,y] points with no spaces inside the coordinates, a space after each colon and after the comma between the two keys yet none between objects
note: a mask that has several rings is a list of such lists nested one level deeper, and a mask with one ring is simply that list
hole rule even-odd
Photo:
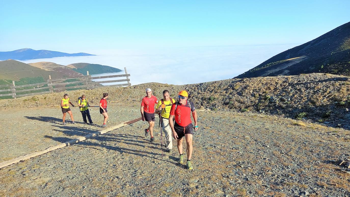
[{"label": "long wooden beam lying diagonally across the gravel ground", "polygon": [[70,140],[70,141],[67,141],[67,142],[64,142],[64,143],[61,143],[57,146],[52,146],[52,147],[49,147],[49,148],[46,148],[44,150],[41,150],[41,151],[38,151],[38,152],[35,152],[35,153],[30,153],[28,155],[24,155],[24,156],[20,156],[20,157],[16,157],[12,160],[8,160],[8,161],[5,161],[5,162],[2,162],[0,163],[0,169],[1,168],[4,168],[6,166],[10,166],[12,164],[15,164],[15,163],[18,163],[18,162],[21,162],[21,161],[25,161],[25,160],[28,160],[30,158],[33,158],[35,156],[39,156],[39,155],[42,155],[42,154],[45,154],[45,153],[48,153],[52,150],[56,150],[56,149],[59,149],[59,148],[63,148],[63,147],[66,147],[66,146],[70,146],[70,145],[73,145],[75,143],[78,143],[78,142],[81,142],[81,141],[84,141],[86,139],[90,139],[90,138],[93,138],[93,137],[96,137],[98,135],[101,135],[101,134],[104,134],[104,133],[107,133],[107,132],[110,132],[110,131],[113,131],[115,129],[118,129],[120,127],[124,127],[126,125],[130,125],[134,122],[137,122],[141,120],[141,118],[137,118],[137,119],[134,119],[134,120],[131,120],[131,121],[126,121],[126,122],[123,122],[123,123],[120,123],[119,125],[116,125],[116,126],[113,126],[113,127],[108,127],[102,131],[99,131],[99,132],[94,132],[94,133],[91,133],[89,135],[85,135],[83,137],[80,137],[80,138],[76,138],[76,139],[73,139],[73,140]]}]

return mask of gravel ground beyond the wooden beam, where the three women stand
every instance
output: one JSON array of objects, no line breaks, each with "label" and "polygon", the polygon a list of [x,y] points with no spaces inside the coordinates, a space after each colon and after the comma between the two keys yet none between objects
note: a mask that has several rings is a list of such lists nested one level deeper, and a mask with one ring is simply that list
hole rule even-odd
[{"label": "gravel ground beyond the wooden beam, where the three women stand", "polygon": [[[84,124],[78,107],[70,107],[77,124],[71,124],[66,115],[66,125],[62,125],[62,111],[59,107],[25,108],[0,111],[0,162],[18,156],[43,150],[80,136],[104,129],[103,115],[99,107],[90,107],[90,115],[96,126]],[[109,119],[107,125],[140,117],[139,105],[121,107],[119,104],[108,105]],[[14,118],[16,117],[16,118]]]}]

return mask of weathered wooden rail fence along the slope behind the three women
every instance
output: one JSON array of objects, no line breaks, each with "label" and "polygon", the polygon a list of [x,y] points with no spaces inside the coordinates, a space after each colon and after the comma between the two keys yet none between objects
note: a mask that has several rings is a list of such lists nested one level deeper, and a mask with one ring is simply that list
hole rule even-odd
[{"label": "weathered wooden rail fence along the slope behind the three women", "polygon": [[[130,86],[130,74],[126,71],[126,68],[124,68],[125,74],[124,75],[109,75],[109,76],[100,76],[100,77],[91,77],[89,75],[89,71],[86,72],[86,76],[79,76],[79,77],[69,77],[69,78],[58,78],[58,79],[51,79],[51,76],[49,75],[49,79],[47,82],[42,83],[36,83],[36,84],[27,84],[27,85],[15,85],[15,81],[12,81],[12,85],[0,85],[0,88],[6,88],[4,90],[0,90],[1,92],[11,92],[11,93],[4,93],[0,94],[0,97],[5,96],[12,96],[12,98],[18,98],[18,97],[24,97],[24,96],[33,96],[37,94],[47,94],[47,93],[54,93],[54,92],[62,92],[67,89],[76,89],[76,88],[82,88],[82,89],[95,89],[99,87],[118,87],[118,86]],[[107,78],[114,78],[114,77],[126,77],[126,79],[117,79],[117,80],[104,80],[99,82],[92,81],[93,79],[107,79]],[[66,80],[73,80],[72,82],[64,82]],[[100,85],[101,83],[114,83],[114,82],[126,82],[123,84],[115,84],[115,85]],[[66,85],[72,85],[73,86],[66,86]],[[47,86],[45,86],[47,85]],[[33,87],[31,89],[25,89],[25,90],[16,90],[23,87]],[[40,92],[34,92],[34,93],[25,93],[25,94],[16,94],[16,93],[22,93],[22,92],[29,92],[29,91],[37,91],[42,90]]]}]

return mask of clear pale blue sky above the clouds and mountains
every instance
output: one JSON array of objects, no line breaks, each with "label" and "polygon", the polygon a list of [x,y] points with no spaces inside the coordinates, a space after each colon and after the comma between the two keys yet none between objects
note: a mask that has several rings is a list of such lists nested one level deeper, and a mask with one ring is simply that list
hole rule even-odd
[{"label": "clear pale blue sky above the clouds and mountains", "polygon": [[0,51],[302,44],[350,21],[350,1],[1,0]]}]

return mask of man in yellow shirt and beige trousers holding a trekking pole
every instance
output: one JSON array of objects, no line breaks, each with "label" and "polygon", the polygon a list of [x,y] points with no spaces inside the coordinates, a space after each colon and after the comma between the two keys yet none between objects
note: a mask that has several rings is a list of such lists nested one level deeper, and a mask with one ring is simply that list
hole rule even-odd
[{"label": "man in yellow shirt and beige trousers holding a trekking pole", "polygon": [[[170,98],[169,91],[164,90],[163,91],[163,99],[161,99],[158,102],[158,105],[156,107],[155,113],[161,113],[161,119],[162,119],[162,129],[165,133],[165,142],[167,150],[166,152],[170,153],[171,149],[173,148],[173,141],[172,141],[172,129],[169,126],[169,115],[170,115],[170,108],[172,108],[173,103],[175,103],[175,100],[173,98]],[[166,107],[162,110],[161,105],[165,104]]]}]

